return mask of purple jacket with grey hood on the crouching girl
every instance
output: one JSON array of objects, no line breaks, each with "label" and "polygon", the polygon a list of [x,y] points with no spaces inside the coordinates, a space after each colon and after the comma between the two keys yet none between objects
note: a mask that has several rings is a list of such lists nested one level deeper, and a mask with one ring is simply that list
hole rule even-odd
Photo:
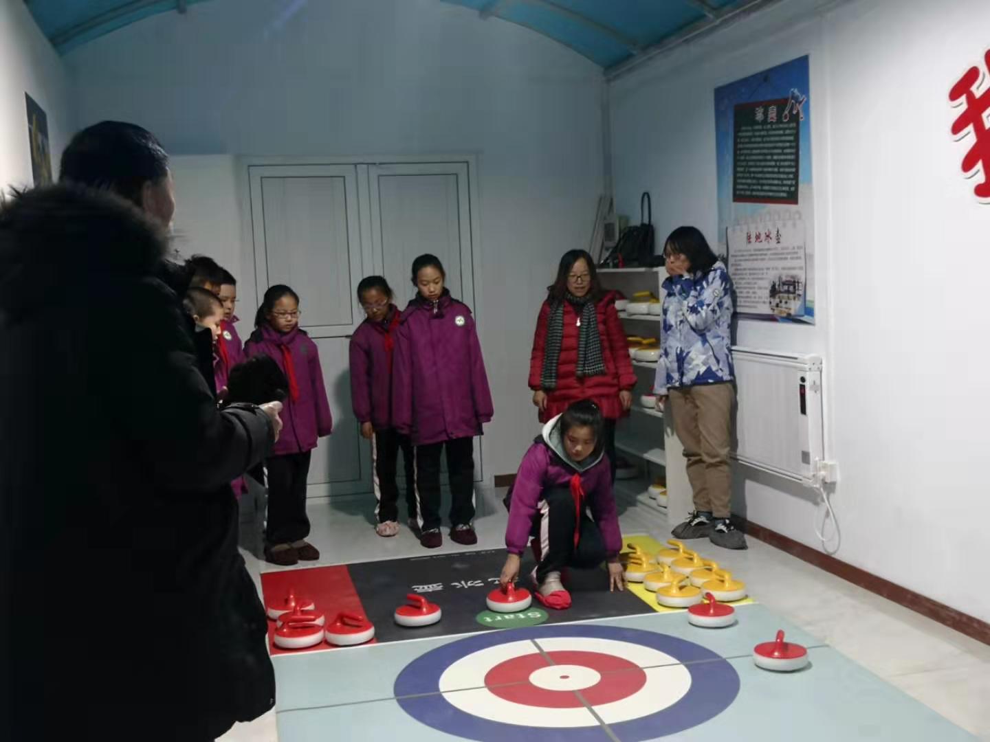
[{"label": "purple jacket with grey hood on the crouching girl", "polygon": [[512,554],[526,550],[533,523],[540,510],[546,489],[569,488],[571,478],[581,477],[585,503],[602,532],[605,552],[609,557],[622,551],[622,531],[612,492],[612,470],[608,456],[601,455],[588,465],[574,465],[566,460],[560,434],[556,428],[560,416],[544,425],[544,433],[526,452],[512,486],[512,506],[505,529],[505,545]]}]

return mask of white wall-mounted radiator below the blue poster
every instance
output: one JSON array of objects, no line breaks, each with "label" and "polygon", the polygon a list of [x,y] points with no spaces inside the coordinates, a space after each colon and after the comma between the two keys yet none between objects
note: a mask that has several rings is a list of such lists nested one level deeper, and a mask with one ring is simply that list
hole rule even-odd
[{"label": "white wall-mounted radiator below the blue poster", "polygon": [[739,409],[734,456],[811,484],[825,460],[822,358],[734,347]]}]

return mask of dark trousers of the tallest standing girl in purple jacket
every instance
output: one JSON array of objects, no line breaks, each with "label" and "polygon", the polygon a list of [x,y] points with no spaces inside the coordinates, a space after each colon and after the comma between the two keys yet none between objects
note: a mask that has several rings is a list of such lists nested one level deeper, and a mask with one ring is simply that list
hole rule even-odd
[{"label": "dark trousers of the tallest standing girl in purple jacket", "polygon": [[423,530],[440,527],[440,456],[445,448],[450,525],[466,525],[474,519],[474,438],[416,446],[416,493]]}]

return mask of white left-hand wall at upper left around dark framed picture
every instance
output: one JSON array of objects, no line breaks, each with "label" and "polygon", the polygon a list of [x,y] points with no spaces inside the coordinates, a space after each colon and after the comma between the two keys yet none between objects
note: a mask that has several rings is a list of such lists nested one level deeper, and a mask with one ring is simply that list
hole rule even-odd
[{"label": "white left-hand wall at upper left around dark framed picture", "polygon": [[31,148],[24,94],[49,117],[52,176],[72,134],[67,75],[28,7],[21,0],[0,0],[0,191],[31,186]]}]

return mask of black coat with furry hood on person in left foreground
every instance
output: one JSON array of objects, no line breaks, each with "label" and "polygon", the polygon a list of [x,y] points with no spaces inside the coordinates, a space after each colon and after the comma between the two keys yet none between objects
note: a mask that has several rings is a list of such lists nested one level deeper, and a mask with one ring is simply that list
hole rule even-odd
[{"label": "black coat with furry hood on person in left foreground", "polygon": [[196,742],[273,705],[228,483],[280,405],[218,411],[165,250],[107,193],[0,206],[2,739]]}]

